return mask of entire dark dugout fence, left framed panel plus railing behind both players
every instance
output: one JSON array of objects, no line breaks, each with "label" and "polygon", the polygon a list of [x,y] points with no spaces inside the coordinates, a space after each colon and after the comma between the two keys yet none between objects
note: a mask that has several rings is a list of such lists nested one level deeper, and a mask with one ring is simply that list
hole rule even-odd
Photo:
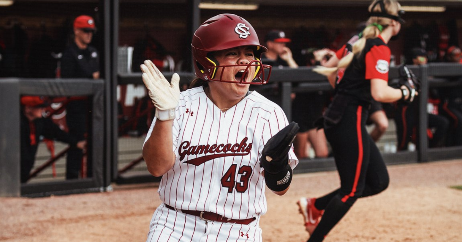
[{"label": "entire dark dugout fence, left framed panel plus railing behind both players", "polygon": [[[426,139],[427,110],[426,101],[430,87],[462,87],[462,67],[460,64],[431,63],[424,66],[410,66],[421,79],[421,92],[419,102],[419,127],[418,147],[415,151],[398,151],[396,153],[383,154],[387,164],[401,164],[427,161],[440,161],[457,159],[462,157],[462,147],[428,148]],[[165,73],[170,79],[173,73]],[[390,69],[390,80],[398,77],[397,67]],[[182,83],[187,84],[195,77],[192,73],[180,73]],[[119,74],[118,84],[142,85],[141,74]],[[452,81],[449,81],[452,80]],[[271,74],[271,83],[280,85],[280,105],[291,117],[292,92],[306,93],[319,90],[329,90],[331,87],[327,80],[312,71],[312,68],[298,69],[274,69]],[[299,83],[296,88],[292,83]],[[272,92],[271,86],[252,87],[265,95]],[[124,164],[120,163],[123,154],[112,143],[120,143],[124,137],[116,137],[115,140],[104,141],[104,130],[112,130],[106,127],[110,124],[104,122],[104,81],[103,80],[78,80],[78,79],[26,79],[26,78],[3,78],[0,79],[0,107],[4,117],[0,122],[0,195],[2,196],[47,196],[50,194],[69,194],[81,192],[95,192],[110,190],[112,182],[117,183],[140,183],[159,180],[147,173],[142,166],[144,162],[141,156],[142,140],[145,136],[138,137],[138,142],[130,151],[134,159],[128,159]],[[30,184],[19,183],[19,97],[21,95],[45,95],[53,97],[62,96],[88,96],[92,100],[91,110],[91,142],[89,146],[90,159],[92,160],[93,174],[91,177],[79,180],[59,180]],[[111,101],[113,105],[116,102]],[[110,106],[110,108],[115,108]],[[107,115],[106,115],[107,116]],[[423,127],[423,128],[422,128]],[[420,138],[425,137],[425,138]],[[113,150],[116,159],[107,160],[104,154]],[[141,169],[136,171],[136,167]],[[335,169],[333,158],[302,159],[295,169],[295,173],[306,173]],[[111,176],[111,172],[116,174]],[[111,178],[112,177],[112,178]]]}]

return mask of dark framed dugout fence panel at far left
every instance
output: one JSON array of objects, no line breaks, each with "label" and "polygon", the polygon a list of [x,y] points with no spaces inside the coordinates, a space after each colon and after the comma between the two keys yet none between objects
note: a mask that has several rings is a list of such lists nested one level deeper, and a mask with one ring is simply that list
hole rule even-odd
[{"label": "dark framed dugout fence panel at far left", "polygon": [[[47,196],[101,191],[107,187],[103,150],[103,80],[86,79],[0,79],[0,195]],[[58,180],[21,184],[20,170],[20,105],[21,95],[49,97],[85,96],[90,99],[88,161],[92,173],[85,179]],[[51,165],[51,164],[50,164]]]}]

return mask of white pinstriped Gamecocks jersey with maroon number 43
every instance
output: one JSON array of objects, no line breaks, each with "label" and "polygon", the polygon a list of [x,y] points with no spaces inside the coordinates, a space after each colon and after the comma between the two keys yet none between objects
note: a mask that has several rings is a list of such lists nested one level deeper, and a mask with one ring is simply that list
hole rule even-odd
[{"label": "white pinstriped Gamecocks jersey with maroon number 43", "polygon": [[[233,219],[264,214],[261,150],[287,124],[280,106],[255,91],[226,112],[207,98],[203,87],[182,92],[173,123],[176,161],[159,184],[161,200],[177,209]],[[292,168],[298,164],[293,149],[289,161]]]}]

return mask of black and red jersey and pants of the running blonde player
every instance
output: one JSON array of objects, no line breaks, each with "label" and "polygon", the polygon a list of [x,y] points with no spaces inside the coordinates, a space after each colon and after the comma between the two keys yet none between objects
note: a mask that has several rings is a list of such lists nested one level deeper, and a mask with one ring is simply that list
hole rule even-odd
[{"label": "black and red jersey and pants of the running blonde player", "polygon": [[334,99],[323,118],[340,188],[316,199],[316,208],[324,210],[324,214],[309,242],[322,241],[356,199],[382,192],[389,185],[385,162],[366,130],[373,100],[371,79],[388,81],[389,61],[390,49],[382,37],[368,39],[362,53],[339,76]]}]

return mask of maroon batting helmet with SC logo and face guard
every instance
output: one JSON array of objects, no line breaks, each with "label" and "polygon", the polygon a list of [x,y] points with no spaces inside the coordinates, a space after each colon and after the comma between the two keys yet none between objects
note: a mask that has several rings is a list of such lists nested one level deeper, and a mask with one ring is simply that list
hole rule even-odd
[{"label": "maroon batting helmet with SC logo and face guard", "polygon": [[[205,21],[195,31],[193,42],[193,62],[195,74],[206,81],[223,81],[245,84],[266,84],[271,73],[270,65],[263,65],[260,61],[261,53],[267,48],[260,45],[258,36],[247,20],[230,13],[219,14]],[[211,54],[214,51],[226,50],[239,46],[253,46],[255,60],[247,65],[223,65]],[[244,66],[247,69],[255,67],[255,76],[252,82],[245,82],[244,78],[240,81],[222,80],[222,74],[217,74],[219,67],[223,69],[231,66]],[[265,79],[263,69],[269,68],[268,77]],[[246,69],[246,70],[247,70]]]}]

